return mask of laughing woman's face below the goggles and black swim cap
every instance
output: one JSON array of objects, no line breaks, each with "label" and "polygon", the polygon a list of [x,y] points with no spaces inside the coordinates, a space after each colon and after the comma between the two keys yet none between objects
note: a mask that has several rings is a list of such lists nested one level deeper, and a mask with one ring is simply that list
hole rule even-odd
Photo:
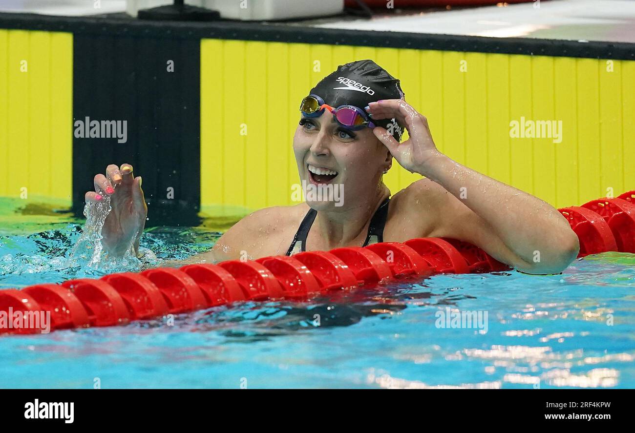
[{"label": "laughing woman's face below the goggles and black swim cap", "polygon": [[[301,117],[293,152],[300,182],[311,185],[314,192],[312,196],[304,191],[307,204],[315,210],[359,205],[360,197],[377,192],[382,172],[392,163],[390,152],[371,128],[344,128],[327,110],[319,117]],[[319,189],[328,192],[322,199],[315,194]]]}]

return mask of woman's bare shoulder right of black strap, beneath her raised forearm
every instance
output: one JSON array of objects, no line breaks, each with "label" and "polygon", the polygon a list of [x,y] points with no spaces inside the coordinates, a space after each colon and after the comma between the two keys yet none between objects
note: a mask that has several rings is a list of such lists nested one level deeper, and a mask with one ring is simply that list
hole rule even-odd
[{"label": "woman's bare shoulder right of black strap, beneath her raised forearm", "polygon": [[403,242],[414,237],[431,236],[439,223],[439,215],[455,197],[427,178],[411,183],[391,197],[385,242]]}]

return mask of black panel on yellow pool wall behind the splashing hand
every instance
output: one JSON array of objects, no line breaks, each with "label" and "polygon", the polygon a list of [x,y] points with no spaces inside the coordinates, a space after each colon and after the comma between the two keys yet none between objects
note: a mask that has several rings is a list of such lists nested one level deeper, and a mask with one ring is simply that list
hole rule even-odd
[{"label": "black panel on yellow pool wall behind the splashing hand", "polygon": [[[147,227],[196,223],[200,207],[200,43],[197,39],[74,36],[73,122],[127,121],[127,141],[73,138],[73,206],[108,164],[143,178]],[[174,71],[168,72],[168,61]],[[173,199],[168,188],[173,188]]]}]

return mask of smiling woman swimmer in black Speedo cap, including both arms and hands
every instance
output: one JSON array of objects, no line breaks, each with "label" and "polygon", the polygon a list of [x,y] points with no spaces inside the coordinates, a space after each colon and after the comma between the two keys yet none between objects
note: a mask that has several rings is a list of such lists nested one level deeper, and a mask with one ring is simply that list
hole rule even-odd
[{"label": "smiling woman swimmer in black Speedo cap, including both arms and hands", "polygon": [[[578,237],[550,204],[441,153],[399,80],[372,60],[340,65],[324,77],[302,100],[300,115],[293,135],[300,183],[340,188],[341,203],[307,194],[304,203],[255,211],[210,251],[187,262],[235,260],[241,251],[259,258],[415,237],[467,241],[531,274],[561,272],[577,256]],[[409,138],[400,143],[404,130]],[[391,197],[383,175],[393,161],[424,178]],[[87,202],[103,200],[102,194],[111,199],[104,248],[119,256],[132,245],[138,256],[147,215],[141,178],[133,177],[130,164],[111,164],[94,184]]]}]

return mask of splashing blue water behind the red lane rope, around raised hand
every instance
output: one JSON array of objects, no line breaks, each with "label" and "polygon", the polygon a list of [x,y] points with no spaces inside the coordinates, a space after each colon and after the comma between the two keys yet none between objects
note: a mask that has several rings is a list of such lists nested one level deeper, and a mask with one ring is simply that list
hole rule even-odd
[{"label": "splashing blue water behind the red lane rope, around raised hand", "polygon": [[[91,215],[93,210],[85,213]],[[69,223],[28,236],[0,236],[0,288],[139,272],[208,251],[221,235],[202,228],[150,227],[141,237],[140,260],[133,255],[113,259],[98,244],[98,222],[93,212],[84,227]]]}]

